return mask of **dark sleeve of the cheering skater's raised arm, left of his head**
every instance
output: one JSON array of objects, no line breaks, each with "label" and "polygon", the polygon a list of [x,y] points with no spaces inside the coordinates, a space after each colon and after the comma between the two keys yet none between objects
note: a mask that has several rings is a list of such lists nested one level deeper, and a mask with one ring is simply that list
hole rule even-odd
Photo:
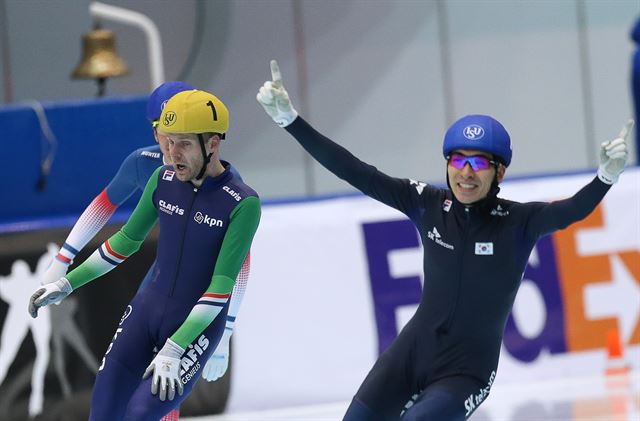
[{"label": "dark sleeve of the cheering skater's raised arm, left of his head", "polygon": [[356,189],[412,219],[417,214],[418,196],[422,194],[424,183],[390,177],[378,171],[319,133],[302,117],[296,118],[286,130],[316,161]]}]

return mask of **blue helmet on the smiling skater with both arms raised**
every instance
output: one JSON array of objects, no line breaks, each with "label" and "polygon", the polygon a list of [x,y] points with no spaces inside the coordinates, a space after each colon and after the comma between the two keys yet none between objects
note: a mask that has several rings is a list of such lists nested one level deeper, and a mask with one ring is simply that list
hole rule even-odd
[{"label": "blue helmet on the smiling skater with both arms raised", "polygon": [[488,115],[467,115],[449,127],[442,153],[448,157],[456,149],[472,149],[492,154],[505,166],[511,163],[511,138],[502,124]]}]

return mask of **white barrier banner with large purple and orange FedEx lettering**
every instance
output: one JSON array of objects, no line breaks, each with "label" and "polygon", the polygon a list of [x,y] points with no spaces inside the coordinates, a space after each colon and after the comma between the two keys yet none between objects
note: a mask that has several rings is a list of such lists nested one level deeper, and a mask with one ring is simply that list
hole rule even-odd
[{"label": "white barrier banner with large purple and orange FedEx lettering", "polygon": [[[571,196],[592,174],[503,183],[500,196]],[[617,329],[640,364],[640,169],[587,219],[541,239],[507,323],[498,382],[597,375]],[[364,196],[270,205],[234,334],[231,409],[350,400],[422,282],[417,231]]]}]

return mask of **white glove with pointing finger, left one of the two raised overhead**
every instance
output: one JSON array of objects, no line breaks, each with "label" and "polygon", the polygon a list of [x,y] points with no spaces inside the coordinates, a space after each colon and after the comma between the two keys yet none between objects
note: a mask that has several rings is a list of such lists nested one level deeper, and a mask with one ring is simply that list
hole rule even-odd
[{"label": "white glove with pointing finger, left one of the two raised overhead", "polygon": [[291,105],[289,94],[282,86],[282,74],[275,60],[271,60],[271,79],[260,87],[256,99],[278,126],[287,127],[298,117],[298,112]]}]

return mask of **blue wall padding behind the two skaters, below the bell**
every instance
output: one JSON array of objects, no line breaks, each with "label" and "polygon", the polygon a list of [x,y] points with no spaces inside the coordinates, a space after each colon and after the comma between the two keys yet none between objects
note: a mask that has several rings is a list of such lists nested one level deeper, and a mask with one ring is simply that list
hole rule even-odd
[{"label": "blue wall padding behind the two skaters, below the bell", "polygon": [[43,102],[58,151],[42,192],[36,184],[46,142],[36,113],[25,105],[0,107],[0,223],[82,212],[131,151],[153,144],[147,98]]}]

